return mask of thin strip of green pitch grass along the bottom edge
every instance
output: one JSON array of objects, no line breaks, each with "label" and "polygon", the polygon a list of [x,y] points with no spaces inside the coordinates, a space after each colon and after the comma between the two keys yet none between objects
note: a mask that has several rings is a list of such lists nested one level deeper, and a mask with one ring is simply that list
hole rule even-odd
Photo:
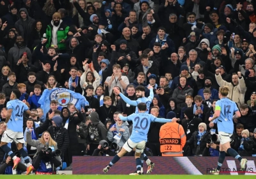
[{"label": "thin strip of green pitch grass along the bottom edge", "polygon": [[244,176],[244,175],[1,175],[1,179],[240,179],[240,178],[252,178],[255,179],[255,176]]}]

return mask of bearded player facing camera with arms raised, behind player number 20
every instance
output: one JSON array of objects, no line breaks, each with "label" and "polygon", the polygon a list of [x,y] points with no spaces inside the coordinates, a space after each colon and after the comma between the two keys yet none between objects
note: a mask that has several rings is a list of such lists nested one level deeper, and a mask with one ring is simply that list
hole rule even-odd
[{"label": "bearded player facing camera with arms raised, behind player number 20", "polygon": [[137,100],[130,100],[129,98],[125,97],[125,95],[123,95],[118,88],[113,88],[113,91],[115,93],[117,93],[118,95],[120,95],[120,97],[124,100],[124,102],[126,102],[129,105],[133,105],[136,106],[136,111],[135,113],[138,113],[138,107],[137,105],[141,102],[145,103],[147,105],[147,113],[149,112],[149,108],[150,108],[150,104],[153,100],[154,97],[154,92],[153,92],[153,87],[148,85],[148,89],[150,90],[150,95],[149,97],[145,97],[145,87],[144,86],[137,86],[135,88],[136,91],[136,98]]}]

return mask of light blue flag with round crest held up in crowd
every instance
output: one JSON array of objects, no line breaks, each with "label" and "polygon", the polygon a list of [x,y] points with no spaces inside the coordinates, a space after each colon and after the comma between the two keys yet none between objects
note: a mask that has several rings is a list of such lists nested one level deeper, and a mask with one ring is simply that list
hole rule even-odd
[{"label": "light blue flag with round crest held up in crowd", "polygon": [[67,104],[74,104],[78,110],[81,110],[81,107],[84,108],[84,105],[89,105],[86,98],[80,93],[71,91],[70,89],[65,88],[53,88],[45,89],[44,93],[40,97],[38,104],[44,110],[44,117],[48,113],[50,108],[51,100],[56,100],[58,102],[58,109],[66,107]]}]

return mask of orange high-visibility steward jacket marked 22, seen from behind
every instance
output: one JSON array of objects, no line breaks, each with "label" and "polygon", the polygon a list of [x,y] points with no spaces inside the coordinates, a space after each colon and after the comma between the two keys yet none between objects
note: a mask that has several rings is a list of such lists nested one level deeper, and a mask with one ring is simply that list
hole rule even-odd
[{"label": "orange high-visibility steward jacket marked 22, seen from behind", "polygon": [[162,156],[183,156],[182,148],[186,144],[186,134],[179,123],[170,122],[162,125],[159,141]]}]

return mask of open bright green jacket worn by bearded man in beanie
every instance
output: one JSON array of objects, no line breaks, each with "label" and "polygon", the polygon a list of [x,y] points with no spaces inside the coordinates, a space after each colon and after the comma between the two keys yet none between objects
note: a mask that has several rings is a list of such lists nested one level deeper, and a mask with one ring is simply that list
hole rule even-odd
[{"label": "open bright green jacket worn by bearded man in beanie", "polygon": [[[46,47],[49,48],[52,44],[52,29],[53,29],[53,22],[51,21],[51,24],[47,26],[46,29],[46,38],[48,39],[46,42]],[[67,40],[67,34],[68,34],[69,27],[60,20],[60,27],[57,31],[57,41],[58,41],[58,49],[65,50],[66,49],[66,43],[61,43],[61,40]]]}]

